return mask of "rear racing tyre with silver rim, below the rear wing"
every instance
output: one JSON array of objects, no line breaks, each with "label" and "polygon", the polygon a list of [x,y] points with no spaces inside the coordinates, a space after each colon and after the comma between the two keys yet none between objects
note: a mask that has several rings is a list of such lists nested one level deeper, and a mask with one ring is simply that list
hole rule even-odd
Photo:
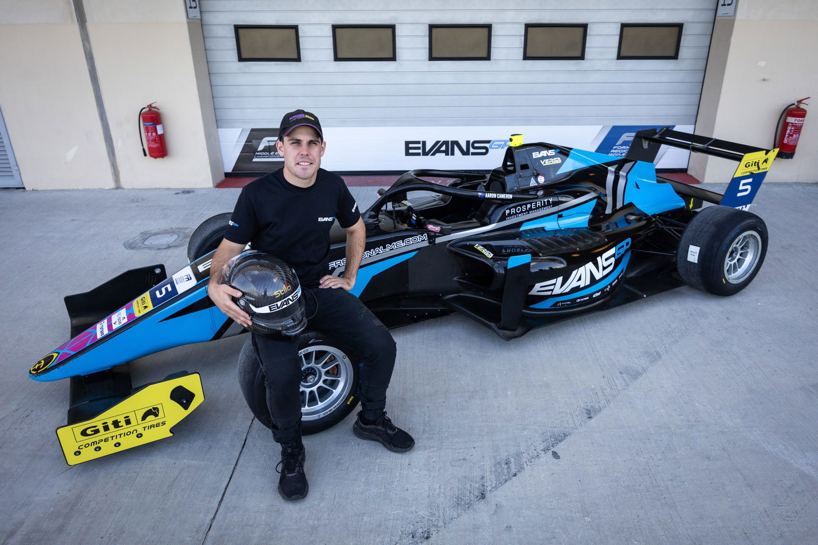
[{"label": "rear racing tyre with silver rim, below the rear wing", "polygon": [[681,235],[676,268],[688,285],[715,295],[734,295],[753,282],[766,255],[762,218],[727,206],[708,206]]}]

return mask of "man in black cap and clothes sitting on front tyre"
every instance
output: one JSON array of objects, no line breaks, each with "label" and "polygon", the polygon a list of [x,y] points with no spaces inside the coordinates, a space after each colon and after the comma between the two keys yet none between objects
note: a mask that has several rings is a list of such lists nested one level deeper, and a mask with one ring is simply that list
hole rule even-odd
[{"label": "man in black cap and clothes sitting on front tyre", "polygon": [[[353,425],[355,435],[379,441],[394,452],[406,452],[415,440],[394,426],[384,412],[395,342],[375,315],[348,293],[355,285],[366,241],[357,203],[342,178],[320,168],[326,142],[315,115],[304,110],[286,114],[281,119],[276,149],[284,157],[284,168],[258,178],[241,191],[224,240],[213,255],[209,297],[223,313],[247,327],[249,315],[232,300],[242,294],[221,283],[222,266],[248,242],[254,250],[289,263],[303,289],[317,300],[317,311],[308,317],[308,327],[348,340],[362,357],[362,411]],[[347,233],[343,277],[328,274],[330,227],[336,218]],[[303,470],[297,337],[278,340],[253,336],[267,386],[273,439],[281,444],[278,490],[285,499],[304,498],[308,483]]]}]

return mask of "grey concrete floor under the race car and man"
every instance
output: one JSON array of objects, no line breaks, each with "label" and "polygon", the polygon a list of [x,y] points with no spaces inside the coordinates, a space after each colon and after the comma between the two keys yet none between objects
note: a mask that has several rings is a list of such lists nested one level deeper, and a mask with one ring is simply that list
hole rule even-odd
[{"label": "grey concrete floor under the race car and man", "polygon": [[388,408],[416,448],[349,417],[305,438],[302,502],[241,398],[243,337],[137,360],[134,385],[200,372],[205,403],[172,438],[67,466],[68,382],[27,376],[68,336],[62,297],[182,268],[184,245],[125,243],[238,191],[0,191],[0,543],[816,543],[816,184],[762,188],[770,249],[739,295],[682,287],[510,342],[456,315],[394,331]]}]

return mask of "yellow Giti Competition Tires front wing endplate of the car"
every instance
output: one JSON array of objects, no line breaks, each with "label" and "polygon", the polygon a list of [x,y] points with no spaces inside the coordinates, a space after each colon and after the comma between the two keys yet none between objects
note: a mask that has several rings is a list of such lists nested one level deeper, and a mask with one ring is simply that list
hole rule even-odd
[{"label": "yellow Giti Competition Tires front wing endplate of the car", "polygon": [[57,428],[65,462],[75,466],[173,435],[205,400],[199,373],[146,385],[91,420]]}]

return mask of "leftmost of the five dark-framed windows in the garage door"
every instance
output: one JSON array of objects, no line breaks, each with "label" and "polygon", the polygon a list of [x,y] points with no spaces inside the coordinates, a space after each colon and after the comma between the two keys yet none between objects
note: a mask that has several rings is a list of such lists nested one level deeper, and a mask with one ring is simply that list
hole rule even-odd
[{"label": "leftmost of the five dark-framed windows in the garage door", "polygon": [[234,25],[239,61],[301,61],[299,27]]}]

